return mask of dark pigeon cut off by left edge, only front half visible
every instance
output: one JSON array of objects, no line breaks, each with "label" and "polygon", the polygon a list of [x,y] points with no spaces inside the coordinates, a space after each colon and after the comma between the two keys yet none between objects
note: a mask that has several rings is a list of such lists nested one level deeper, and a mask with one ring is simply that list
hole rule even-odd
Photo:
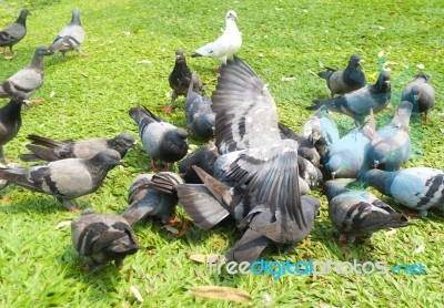
[{"label": "dark pigeon cut off by left edge, only front half visible", "polygon": [[24,103],[23,100],[13,97],[0,109],[0,157],[4,164],[10,162],[4,156],[3,145],[19,133],[21,127],[21,106]]}]

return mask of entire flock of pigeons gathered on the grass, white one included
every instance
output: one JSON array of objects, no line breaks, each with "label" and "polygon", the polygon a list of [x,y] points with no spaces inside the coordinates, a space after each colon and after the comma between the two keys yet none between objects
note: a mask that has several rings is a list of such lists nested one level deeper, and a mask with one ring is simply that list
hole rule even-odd
[{"label": "entire flock of pigeons gathered on the grass, white one included", "polygon": [[[28,11],[0,32],[0,45],[10,48],[26,34]],[[294,245],[304,239],[315,224],[321,202],[307,195],[323,177],[323,192],[329,199],[329,215],[340,232],[339,242],[353,243],[383,228],[404,227],[407,218],[396,213],[376,195],[350,186],[361,182],[425,216],[427,209],[444,203],[444,172],[428,167],[401,170],[412,151],[410,117],[424,113],[435,103],[430,76],[420,73],[405,85],[393,120],[376,129],[374,114],[391,100],[390,73],[382,71],[374,84],[367,85],[353,54],[344,70],[326,69],[319,73],[326,80],[330,99],[314,101],[316,110],[305,122],[301,134],[279,123],[276,105],[265,84],[235,53],[242,35],[235,23],[236,13],[229,11],[225,31],[214,42],[198,49],[192,57],[218,60],[220,76],[211,99],[203,91],[196,72],[188,68],[184,52],[175,51],[175,64],[169,76],[172,92],[171,112],[178,96],[185,96],[188,129],[176,127],[138,104],[129,110],[137,123],[142,145],[155,174],[140,174],[129,188],[129,207],[121,215],[82,212],[71,224],[72,243],[84,256],[87,268],[108,261],[120,267],[138,245],[132,225],[159,217],[168,224],[180,203],[203,229],[231,217],[242,232],[240,240],[226,253],[236,261],[254,261],[270,244]],[[0,97],[10,102],[0,110],[0,145],[12,140],[20,126],[23,103],[43,82],[43,55],[63,53],[80,45],[84,30],[75,9],[50,48],[39,47],[30,65],[0,85]],[[336,96],[335,96],[336,95]],[[331,112],[355,120],[356,127],[340,136]],[[369,117],[369,123],[365,119]],[[212,140],[186,156],[188,134]],[[20,155],[26,162],[47,161],[31,167],[0,168],[3,181],[24,188],[54,195],[67,209],[71,201],[100,188],[107,174],[134,146],[134,138],[122,133],[113,138],[54,141],[30,135]],[[8,162],[1,151],[6,163]],[[185,157],[186,156],[186,157]],[[164,164],[158,172],[157,161]],[[180,162],[179,162],[180,161]],[[180,174],[169,172],[179,162]]]}]

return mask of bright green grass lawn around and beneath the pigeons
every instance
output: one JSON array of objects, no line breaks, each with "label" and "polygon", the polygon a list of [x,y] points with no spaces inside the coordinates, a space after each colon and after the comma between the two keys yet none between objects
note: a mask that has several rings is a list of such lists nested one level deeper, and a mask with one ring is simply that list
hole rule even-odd
[{"label": "bright green grass lawn around and beneath the pigeons", "polygon": [[[280,120],[296,131],[310,115],[304,106],[313,99],[329,95],[323,80],[315,75],[322,69],[320,62],[342,68],[350,54],[356,52],[365,60],[364,71],[371,82],[384,59],[395,62],[390,65],[395,104],[403,85],[423,64],[432,76],[437,104],[427,126],[412,125],[415,156],[407,166],[444,168],[444,136],[440,131],[444,120],[443,1],[2,1],[0,28],[14,20],[23,7],[32,9],[29,32],[16,47],[18,57],[10,61],[0,59],[0,80],[27,65],[37,45],[50,44],[69,22],[74,7],[80,8],[87,31],[82,51],[90,55],[79,58],[70,53],[65,61],[60,54],[44,59],[46,81],[33,97],[46,102],[23,113],[21,131],[6,145],[6,154],[14,161],[24,152],[30,133],[53,138],[112,136],[123,131],[137,135],[129,107],[138,102],[155,111],[165,106],[174,50],[183,48],[190,53],[214,39],[224,27],[225,12],[234,9],[244,41],[239,55],[269,85]],[[381,51],[384,59],[377,58]],[[150,63],[138,63],[143,60]],[[188,62],[211,93],[216,63],[210,59]],[[283,76],[295,80],[282,81]],[[182,97],[172,115],[161,115],[184,126],[183,106]],[[379,123],[387,121],[392,112],[393,106],[379,114]],[[346,117],[335,120],[342,130],[352,126]],[[191,137],[190,143],[199,145],[202,141]],[[135,175],[149,172],[148,162],[141,147],[131,151],[125,157],[128,166],[110,172],[104,186],[79,198],[78,204],[97,212],[123,212],[127,189]],[[337,232],[327,218],[326,199],[321,197],[321,216],[307,240],[287,254],[268,249],[264,258],[423,263],[427,275],[285,275],[273,280],[270,275],[210,275],[206,265],[189,258],[190,254],[224,254],[238,239],[231,226],[210,232],[192,227],[183,238],[176,238],[157,220],[135,225],[140,244],[149,247],[147,250],[128,257],[120,271],[105,266],[99,274],[89,275],[71,245],[70,228],[56,229],[60,222],[71,220],[78,214],[63,211],[51,196],[12,185],[1,191],[0,197],[2,307],[233,306],[194,297],[193,287],[204,285],[244,289],[252,297],[244,306],[251,307],[444,305],[443,209],[414,219],[414,226],[389,234],[380,232],[365,243],[339,247],[334,242]],[[396,206],[390,198],[384,201]],[[178,214],[185,216],[180,207]],[[415,254],[421,245],[425,250]],[[144,298],[142,305],[130,291],[131,286]]]}]

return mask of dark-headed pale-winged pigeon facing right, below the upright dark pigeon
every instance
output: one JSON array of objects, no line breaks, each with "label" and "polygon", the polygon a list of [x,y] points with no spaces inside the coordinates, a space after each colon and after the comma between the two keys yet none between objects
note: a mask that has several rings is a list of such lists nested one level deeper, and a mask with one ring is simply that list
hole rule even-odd
[{"label": "dark-headed pale-winged pigeon facing right, below the upright dark pigeon", "polygon": [[157,160],[174,163],[186,155],[189,146],[185,130],[162,121],[140,105],[130,109],[129,114],[139,125],[140,138],[150,155],[151,170],[157,171],[154,165]]}]

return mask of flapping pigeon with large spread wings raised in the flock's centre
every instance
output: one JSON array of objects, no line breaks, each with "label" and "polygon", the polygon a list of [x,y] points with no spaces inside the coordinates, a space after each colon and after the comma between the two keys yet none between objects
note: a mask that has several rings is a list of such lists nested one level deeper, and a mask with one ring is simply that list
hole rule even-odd
[{"label": "flapping pigeon with large spread wings raised in the flock's centre", "polygon": [[[194,220],[201,220],[196,224],[203,228],[231,213],[239,227],[252,229],[270,242],[292,245],[304,238],[314,215],[307,215],[301,202],[297,143],[281,140],[272,96],[236,57],[222,65],[212,110],[216,114],[215,144],[222,154],[218,161],[232,162],[223,172],[224,179],[218,178],[214,166],[215,178],[203,171],[202,176],[198,173],[203,185],[178,185],[185,211]],[[233,256],[238,261],[259,257],[255,253],[243,254],[242,259]]]}]

